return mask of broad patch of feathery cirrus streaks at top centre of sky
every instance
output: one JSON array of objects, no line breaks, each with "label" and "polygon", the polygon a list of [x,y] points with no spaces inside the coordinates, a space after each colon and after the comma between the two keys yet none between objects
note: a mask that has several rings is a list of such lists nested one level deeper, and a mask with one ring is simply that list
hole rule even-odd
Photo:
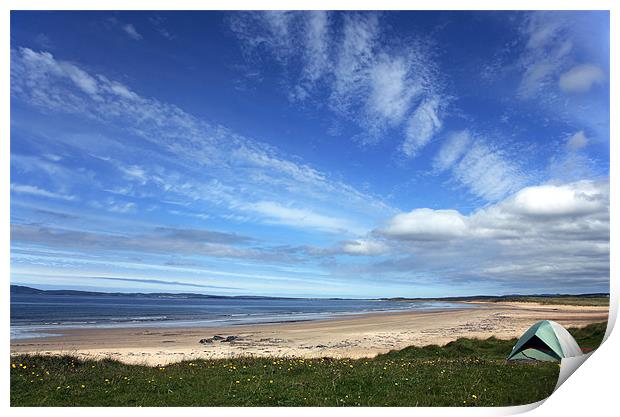
[{"label": "broad patch of feathery cirrus streaks at top centre of sky", "polygon": [[380,14],[252,12],[232,18],[231,29],[244,50],[282,65],[292,100],[327,101],[335,118],[357,125],[364,144],[398,132],[403,155],[413,158],[441,130],[448,100],[428,41],[395,45]]}]

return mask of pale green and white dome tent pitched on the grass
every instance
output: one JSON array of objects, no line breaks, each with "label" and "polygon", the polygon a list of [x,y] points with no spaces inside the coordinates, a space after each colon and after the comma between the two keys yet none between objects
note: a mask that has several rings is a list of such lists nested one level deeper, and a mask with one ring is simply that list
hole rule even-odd
[{"label": "pale green and white dome tent pitched on the grass", "polygon": [[508,360],[557,361],[582,354],[573,336],[561,324],[543,320],[521,336],[508,355]]}]

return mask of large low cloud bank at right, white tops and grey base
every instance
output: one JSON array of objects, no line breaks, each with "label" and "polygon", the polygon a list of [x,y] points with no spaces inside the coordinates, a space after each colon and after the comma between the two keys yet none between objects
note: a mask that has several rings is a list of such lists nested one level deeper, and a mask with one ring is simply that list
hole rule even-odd
[{"label": "large low cloud bank at right, white tops and grey base", "polygon": [[488,281],[510,291],[515,280],[524,292],[591,291],[609,283],[609,214],[606,181],[527,187],[468,215],[416,209],[376,231],[389,239],[394,256],[354,272],[402,273],[403,282],[415,276],[455,285]]}]

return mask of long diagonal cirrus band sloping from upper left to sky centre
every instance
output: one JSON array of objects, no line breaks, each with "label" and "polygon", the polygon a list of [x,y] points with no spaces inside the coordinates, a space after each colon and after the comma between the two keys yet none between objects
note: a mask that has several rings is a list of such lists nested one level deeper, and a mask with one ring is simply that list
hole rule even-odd
[{"label": "long diagonal cirrus band sloping from upper left to sky centre", "polygon": [[[262,201],[284,199],[296,210],[309,213],[311,207],[328,204],[328,211],[332,213],[347,213],[349,218],[352,213],[358,213],[354,216],[357,221],[351,219],[346,224],[349,231],[372,227],[373,217],[392,210],[379,198],[333,180],[307,164],[289,160],[265,143],[199,120],[174,105],[144,98],[124,84],[101,74],[88,73],[47,52],[21,48],[12,50],[11,57],[14,99],[45,111],[80,115],[107,126],[120,124],[125,132],[155,147],[157,151],[152,152],[151,157],[156,156],[156,159],[148,166],[128,162],[126,152],[117,159],[97,158],[101,163],[116,167],[125,180],[115,186],[106,184],[106,189],[120,189],[121,186],[126,189],[129,181],[133,196],[138,195],[137,188],[157,187],[188,204],[208,203],[227,210],[229,215],[252,214],[259,216],[259,222],[262,217],[265,223],[271,224],[273,216],[264,210],[248,208],[261,207]],[[118,148],[126,149],[128,145],[119,143]],[[76,146],[82,144],[76,142]],[[164,158],[166,154],[174,155],[174,159],[167,168],[157,166],[157,158]],[[121,158],[125,160],[122,163]],[[179,165],[194,175],[181,175],[170,168]],[[315,214],[309,218],[321,221],[281,221],[278,224],[324,231],[323,220],[328,217],[344,215]],[[341,228],[337,230],[342,232]]]}]

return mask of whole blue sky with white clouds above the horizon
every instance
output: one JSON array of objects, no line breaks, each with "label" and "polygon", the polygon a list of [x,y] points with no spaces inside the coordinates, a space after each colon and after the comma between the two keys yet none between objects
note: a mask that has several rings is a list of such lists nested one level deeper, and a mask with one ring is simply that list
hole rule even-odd
[{"label": "whole blue sky with white clouds above the horizon", "polygon": [[606,12],[12,12],[11,282],[609,289]]}]

